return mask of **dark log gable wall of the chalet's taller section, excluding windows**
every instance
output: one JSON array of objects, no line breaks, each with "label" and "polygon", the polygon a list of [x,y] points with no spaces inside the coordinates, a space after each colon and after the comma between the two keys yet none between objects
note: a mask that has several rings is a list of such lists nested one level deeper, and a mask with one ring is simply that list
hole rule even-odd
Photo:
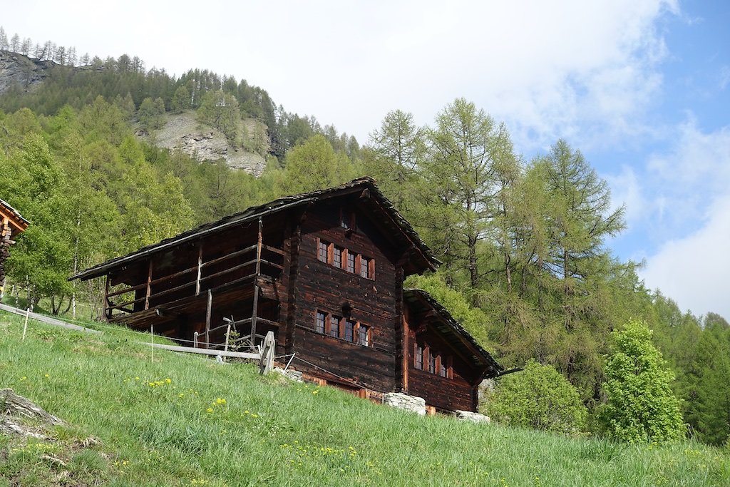
[{"label": "dark log gable wall of the chalet's taller section, excluding windows", "polygon": [[[399,273],[388,255],[392,245],[379,234],[366,215],[355,213],[356,229],[340,226],[339,206],[319,204],[307,212],[301,226],[301,245],[297,256],[296,312],[293,329],[293,351],[296,356],[347,380],[355,380],[365,388],[393,391],[396,388],[396,334],[399,294],[402,287]],[[374,279],[361,277],[345,269],[318,260],[318,239],[339,245],[351,252],[374,259]],[[391,250],[392,252],[392,250]],[[350,318],[371,327],[371,344],[357,345],[315,331],[315,316],[319,310],[346,316],[343,304],[351,307]],[[313,375],[321,370],[298,361],[297,368]]]}]

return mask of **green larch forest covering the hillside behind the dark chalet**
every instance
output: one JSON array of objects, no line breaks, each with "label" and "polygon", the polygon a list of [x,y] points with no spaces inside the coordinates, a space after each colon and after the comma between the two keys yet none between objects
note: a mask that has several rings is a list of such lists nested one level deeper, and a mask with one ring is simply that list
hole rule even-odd
[{"label": "green larch forest covering the hillside behind the dark chalet", "polygon": [[[0,197],[31,221],[8,262],[10,285],[31,303],[50,299],[52,312],[74,313],[81,300],[96,304],[97,318],[99,283],[67,280],[80,269],[253,204],[369,175],[443,262],[408,284],[431,292],[506,367],[551,367],[598,418],[617,333],[641,320],[676,376],[689,434],[728,441],[729,323],[683,312],[645,288],[639,264],[612,255],[606,242],[624,229],[623,208],[568,142],[526,161],[503,124],[456,99],[431,126],[393,110],[359,147],[313,118],[281,118],[243,81],[197,70],[174,80],[112,61],[57,66],[36,89],[0,96]],[[258,94],[247,98],[248,89]],[[201,105],[178,106],[178,91]],[[211,93],[233,97],[235,116],[266,121],[272,157],[260,178],[135,136],[146,100],[200,110]],[[580,429],[596,429],[591,421]]]}]

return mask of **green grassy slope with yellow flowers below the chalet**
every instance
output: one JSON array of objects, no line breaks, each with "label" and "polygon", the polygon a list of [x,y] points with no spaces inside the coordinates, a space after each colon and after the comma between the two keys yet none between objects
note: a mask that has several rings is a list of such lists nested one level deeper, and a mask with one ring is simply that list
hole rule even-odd
[{"label": "green grassy slope with yellow flowers below the chalet", "polygon": [[[0,435],[0,486],[730,485],[727,454],[693,442],[629,447],[419,418],[250,365],[161,350],[151,361],[132,342],[147,338],[128,332],[31,322],[20,342],[22,327],[0,312],[0,388],[74,427],[53,444]],[[101,444],[83,448],[91,435]],[[49,451],[65,466],[42,459]]]}]

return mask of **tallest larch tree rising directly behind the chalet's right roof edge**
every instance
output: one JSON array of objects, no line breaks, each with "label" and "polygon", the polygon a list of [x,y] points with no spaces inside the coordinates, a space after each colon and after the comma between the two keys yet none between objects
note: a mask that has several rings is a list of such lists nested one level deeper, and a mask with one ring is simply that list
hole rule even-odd
[{"label": "tallest larch tree rising directly behind the chalet's right roof edge", "polygon": [[444,261],[450,283],[458,272],[466,272],[469,285],[477,288],[483,277],[478,248],[496,212],[496,165],[514,158],[510,137],[475,104],[456,99],[439,112],[428,138],[423,164],[428,183],[423,196],[430,212],[426,235]]}]

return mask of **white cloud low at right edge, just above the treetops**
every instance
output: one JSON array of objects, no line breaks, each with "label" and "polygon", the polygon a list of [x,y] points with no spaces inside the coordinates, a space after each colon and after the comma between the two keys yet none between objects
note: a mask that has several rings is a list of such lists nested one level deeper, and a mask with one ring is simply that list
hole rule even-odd
[{"label": "white cloud low at right edge, just above the treetops", "polygon": [[730,194],[710,206],[707,218],[694,234],[666,242],[641,274],[648,287],[661,288],[683,309],[730,318]]}]

